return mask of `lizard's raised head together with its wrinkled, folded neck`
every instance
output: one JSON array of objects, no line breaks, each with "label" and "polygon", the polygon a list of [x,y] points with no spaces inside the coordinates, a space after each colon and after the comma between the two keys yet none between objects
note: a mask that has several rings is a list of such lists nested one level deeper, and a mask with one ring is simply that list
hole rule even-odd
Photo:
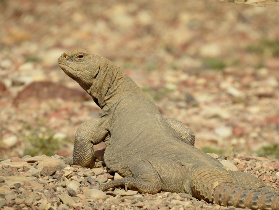
[{"label": "lizard's raised head together with its wrinkled, folded neck", "polygon": [[58,63],[102,109],[107,98],[116,95],[124,75],[113,62],[84,49],[67,50],[59,57]]}]

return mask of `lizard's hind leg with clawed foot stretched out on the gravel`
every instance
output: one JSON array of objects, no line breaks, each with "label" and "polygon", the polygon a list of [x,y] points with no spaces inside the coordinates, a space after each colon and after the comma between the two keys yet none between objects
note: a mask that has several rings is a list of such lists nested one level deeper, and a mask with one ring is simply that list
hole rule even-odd
[{"label": "lizard's hind leg with clawed foot stretched out on the gravel", "polygon": [[102,185],[104,191],[113,187],[136,189],[140,193],[155,194],[159,191],[190,193],[190,180],[187,168],[164,157],[147,157],[132,162],[130,175]]}]

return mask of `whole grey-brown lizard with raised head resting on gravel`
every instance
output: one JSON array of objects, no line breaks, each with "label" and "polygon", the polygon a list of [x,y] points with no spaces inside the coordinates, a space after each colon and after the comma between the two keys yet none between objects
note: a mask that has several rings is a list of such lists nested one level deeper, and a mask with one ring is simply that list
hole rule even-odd
[{"label": "whole grey-brown lizard with raised head resting on gravel", "polygon": [[98,118],[76,130],[73,149],[73,164],[94,167],[93,145],[105,142],[107,172],[124,178],[100,185],[100,190],[187,193],[222,206],[279,209],[278,193],[250,174],[226,170],[194,147],[190,129],[163,118],[153,100],[113,62],[74,49],[58,63],[102,109]]}]

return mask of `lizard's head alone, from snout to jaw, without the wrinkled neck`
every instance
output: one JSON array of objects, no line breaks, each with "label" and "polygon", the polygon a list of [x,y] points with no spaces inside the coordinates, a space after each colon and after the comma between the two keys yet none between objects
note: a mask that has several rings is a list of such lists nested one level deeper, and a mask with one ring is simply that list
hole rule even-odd
[{"label": "lizard's head alone, from snout to jaw, without the wrinkled neck", "polygon": [[96,79],[103,57],[89,53],[84,49],[64,52],[58,59],[60,68],[86,91]]}]

